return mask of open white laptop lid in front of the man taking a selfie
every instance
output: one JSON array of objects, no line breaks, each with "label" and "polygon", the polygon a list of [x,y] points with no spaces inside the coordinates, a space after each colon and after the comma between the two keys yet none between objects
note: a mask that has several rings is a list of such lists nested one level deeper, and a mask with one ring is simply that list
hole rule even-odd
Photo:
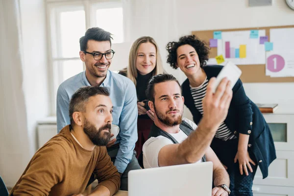
[{"label": "open white laptop lid in front of the man taking a selfie", "polygon": [[128,196],[211,196],[212,162],[128,172]]}]

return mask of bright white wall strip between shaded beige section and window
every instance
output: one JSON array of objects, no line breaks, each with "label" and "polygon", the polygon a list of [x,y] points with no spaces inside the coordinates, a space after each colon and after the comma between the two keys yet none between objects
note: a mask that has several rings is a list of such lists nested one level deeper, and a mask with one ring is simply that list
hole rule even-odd
[{"label": "bright white wall strip between shaded beige section and window", "polygon": [[49,115],[47,29],[44,0],[20,0],[24,49],[24,93],[30,154],[36,147],[37,121]]}]

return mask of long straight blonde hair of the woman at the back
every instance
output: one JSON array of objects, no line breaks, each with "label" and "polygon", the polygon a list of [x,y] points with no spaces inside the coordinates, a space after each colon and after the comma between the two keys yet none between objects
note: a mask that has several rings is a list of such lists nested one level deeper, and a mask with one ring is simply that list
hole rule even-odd
[{"label": "long straight blonde hair of the woman at the back", "polygon": [[137,60],[138,50],[142,43],[151,43],[155,46],[155,49],[156,49],[156,65],[154,70],[152,71],[153,72],[152,76],[164,73],[161,56],[160,56],[159,49],[156,42],[154,41],[152,37],[148,37],[148,36],[140,37],[133,43],[130,49],[129,64],[127,67],[127,74],[126,74],[126,76],[134,82],[135,86],[137,85],[136,78],[138,76],[137,68],[136,68],[136,60]]}]

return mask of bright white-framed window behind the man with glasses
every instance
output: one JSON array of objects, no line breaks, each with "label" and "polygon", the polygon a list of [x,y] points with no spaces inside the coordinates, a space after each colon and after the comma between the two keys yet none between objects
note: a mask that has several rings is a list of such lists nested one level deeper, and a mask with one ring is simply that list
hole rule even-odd
[{"label": "bright white-framed window behind the man with glasses", "polygon": [[123,8],[120,0],[47,0],[51,114],[56,114],[59,85],[84,70],[79,39],[86,29],[98,26],[113,34],[113,44],[123,43]]}]

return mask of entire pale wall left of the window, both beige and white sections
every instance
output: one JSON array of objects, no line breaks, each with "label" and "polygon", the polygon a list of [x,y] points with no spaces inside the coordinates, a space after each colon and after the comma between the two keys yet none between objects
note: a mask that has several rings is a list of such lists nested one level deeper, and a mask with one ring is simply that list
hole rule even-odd
[{"label": "entire pale wall left of the window, both beige and white sections", "polygon": [[36,121],[49,115],[46,15],[44,0],[1,5],[0,175],[13,187],[36,151]]}]

